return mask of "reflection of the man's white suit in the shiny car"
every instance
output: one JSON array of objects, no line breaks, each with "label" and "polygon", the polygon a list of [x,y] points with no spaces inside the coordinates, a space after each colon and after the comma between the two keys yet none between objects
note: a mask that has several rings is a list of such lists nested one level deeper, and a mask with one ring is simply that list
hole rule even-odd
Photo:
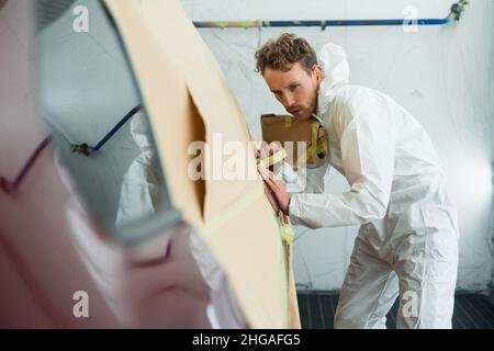
[{"label": "reflection of the man's white suit in the shiny car", "polygon": [[[125,173],[116,225],[132,223],[154,214],[161,203],[161,182],[157,155],[149,139],[149,129],[145,115],[137,113],[131,122],[131,134],[142,154],[131,163]],[[202,278],[210,288],[207,318],[214,329],[246,328],[246,321],[233,297],[226,276],[213,258],[209,247],[190,228],[190,249]],[[153,242],[151,242],[153,244]],[[164,252],[165,254],[165,252]]]}]

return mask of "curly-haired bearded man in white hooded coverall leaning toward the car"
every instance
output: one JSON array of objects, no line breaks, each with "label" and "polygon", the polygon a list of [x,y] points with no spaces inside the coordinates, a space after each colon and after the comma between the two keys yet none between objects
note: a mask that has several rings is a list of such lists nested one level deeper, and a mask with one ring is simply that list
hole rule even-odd
[{"label": "curly-haired bearded man in white hooded coverall leaning toward the car", "polygon": [[[360,225],[336,328],[385,328],[398,294],[398,328],[451,328],[459,234],[433,144],[391,98],[348,84],[341,47],[327,44],[319,58],[321,65],[311,45],[293,34],[256,53],[258,71],[287,111],[326,128],[328,162],[350,190],[289,194],[290,181],[260,169],[274,207],[310,228]],[[310,178],[307,185],[324,189],[323,178]]]}]

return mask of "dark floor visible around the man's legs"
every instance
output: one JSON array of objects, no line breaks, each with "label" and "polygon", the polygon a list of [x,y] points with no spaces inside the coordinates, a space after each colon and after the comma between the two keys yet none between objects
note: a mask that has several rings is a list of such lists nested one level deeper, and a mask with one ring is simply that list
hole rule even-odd
[{"label": "dark floor visible around the man's legs", "polygon": [[[333,329],[338,304],[335,293],[299,293],[299,309],[304,329]],[[388,315],[386,327],[396,328],[397,301]],[[494,328],[494,304],[486,296],[457,295],[452,320],[453,329]]]}]

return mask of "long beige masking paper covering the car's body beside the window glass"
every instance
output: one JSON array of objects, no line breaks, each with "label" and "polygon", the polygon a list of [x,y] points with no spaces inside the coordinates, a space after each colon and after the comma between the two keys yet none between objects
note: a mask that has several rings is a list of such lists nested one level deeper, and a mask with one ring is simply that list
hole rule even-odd
[{"label": "long beige masking paper covering the car's body beside the window glass", "polygon": [[[190,143],[215,147],[213,133],[223,143],[247,147],[249,140],[245,116],[215,59],[178,0],[105,4],[126,45],[173,205],[212,248],[250,327],[297,327],[294,282],[288,288],[294,302],[289,303],[279,228],[261,180],[192,181],[188,176],[195,157],[188,155]],[[255,167],[254,158],[248,161]]]}]

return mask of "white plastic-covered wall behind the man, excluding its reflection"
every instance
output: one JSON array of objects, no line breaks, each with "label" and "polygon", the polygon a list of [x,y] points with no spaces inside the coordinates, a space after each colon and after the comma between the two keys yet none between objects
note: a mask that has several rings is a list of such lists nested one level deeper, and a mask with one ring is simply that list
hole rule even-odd
[{"label": "white plastic-covered wall behind the man, excluding its reflection", "polygon": [[[449,174],[458,203],[461,240],[458,288],[486,290],[492,282],[492,180],[494,132],[494,1],[471,1],[460,22],[420,26],[200,30],[223,69],[251,131],[261,113],[282,113],[254,72],[260,43],[282,32],[306,37],[316,49],[330,41],[346,48],[350,82],[381,90],[425,126]],[[407,7],[419,18],[445,18],[445,0],[182,0],[194,21],[396,19]],[[346,181],[329,173],[327,189]],[[357,228],[297,230],[295,279],[300,288],[338,290]]]}]

